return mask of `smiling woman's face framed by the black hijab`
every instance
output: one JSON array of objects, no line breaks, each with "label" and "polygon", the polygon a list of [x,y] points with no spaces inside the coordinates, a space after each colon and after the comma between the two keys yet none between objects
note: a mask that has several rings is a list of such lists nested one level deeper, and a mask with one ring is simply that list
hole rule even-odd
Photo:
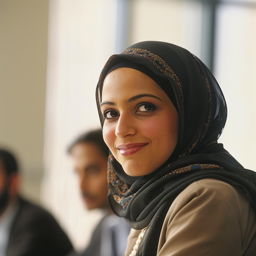
[{"label": "smiling woman's face framed by the black hijab", "polygon": [[103,139],[126,174],[143,176],[171,156],[178,113],[167,94],[144,73],[121,67],[103,83]]}]

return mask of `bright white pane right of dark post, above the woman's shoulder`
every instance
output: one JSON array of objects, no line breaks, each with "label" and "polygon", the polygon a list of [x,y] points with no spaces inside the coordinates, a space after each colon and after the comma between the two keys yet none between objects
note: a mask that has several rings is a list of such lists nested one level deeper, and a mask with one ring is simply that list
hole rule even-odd
[{"label": "bright white pane right of dark post, above the woman's shoulder", "polygon": [[222,5],[218,10],[216,78],[227,101],[220,137],[245,168],[256,171],[256,8]]}]

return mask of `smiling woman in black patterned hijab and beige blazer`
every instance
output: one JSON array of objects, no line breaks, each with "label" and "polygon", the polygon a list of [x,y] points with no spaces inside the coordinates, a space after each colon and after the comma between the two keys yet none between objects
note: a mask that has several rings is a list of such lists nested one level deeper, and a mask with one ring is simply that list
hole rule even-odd
[{"label": "smiling woman in black patterned hijab and beige blazer", "polygon": [[218,144],[226,103],[198,58],[137,43],[110,57],[96,97],[125,256],[255,255],[256,174]]}]

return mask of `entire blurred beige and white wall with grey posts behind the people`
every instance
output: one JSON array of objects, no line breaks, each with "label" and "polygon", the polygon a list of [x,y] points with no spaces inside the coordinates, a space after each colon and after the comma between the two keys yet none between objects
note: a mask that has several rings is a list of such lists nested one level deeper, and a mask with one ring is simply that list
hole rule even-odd
[{"label": "entire blurred beige and white wall with grey posts behind the people", "polygon": [[220,142],[256,170],[256,0],[0,0],[0,146],[22,193],[44,205],[77,249],[100,213],[80,198],[67,145],[99,127],[95,88],[108,57],[144,40],[202,59],[224,92]]}]

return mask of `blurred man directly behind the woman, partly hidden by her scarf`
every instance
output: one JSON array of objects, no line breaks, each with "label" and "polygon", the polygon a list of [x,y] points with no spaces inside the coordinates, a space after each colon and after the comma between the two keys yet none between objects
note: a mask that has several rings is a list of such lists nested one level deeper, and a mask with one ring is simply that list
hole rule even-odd
[{"label": "blurred man directly behind the woman, partly hidden by her scarf", "polygon": [[108,204],[107,164],[109,151],[103,141],[102,130],[92,130],[80,135],[72,142],[67,151],[79,177],[79,189],[86,208],[103,211],[103,218],[94,229],[88,247],[79,255],[123,255],[130,227],[123,218],[112,213]]}]

